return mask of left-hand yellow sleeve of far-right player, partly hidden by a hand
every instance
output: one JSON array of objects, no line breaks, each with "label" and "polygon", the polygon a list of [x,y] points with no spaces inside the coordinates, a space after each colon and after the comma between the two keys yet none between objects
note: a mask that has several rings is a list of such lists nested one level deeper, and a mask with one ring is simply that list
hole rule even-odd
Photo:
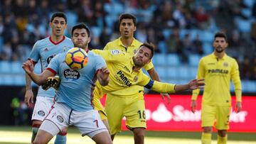
[{"label": "left-hand yellow sleeve of far-right player, partly hidden by a hand", "polygon": [[[205,69],[203,65],[203,59],[201,59],[198,65],[198,72],[196,75],[196,79],[204,79],[204,77],[205,77]],[[200,89],[193,90],[191,99],[196,100],[199,92],[200,92]]]}]

